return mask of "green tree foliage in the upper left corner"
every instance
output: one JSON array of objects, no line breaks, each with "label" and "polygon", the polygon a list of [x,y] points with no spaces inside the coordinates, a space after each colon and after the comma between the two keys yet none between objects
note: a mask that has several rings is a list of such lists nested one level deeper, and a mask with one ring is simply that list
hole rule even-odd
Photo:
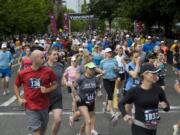
[{"label": "green tree foliage in the upper left corner", "polygon": [[0,32],[18,34],[46,31],[52,4],[51,0],[0,0]]}]

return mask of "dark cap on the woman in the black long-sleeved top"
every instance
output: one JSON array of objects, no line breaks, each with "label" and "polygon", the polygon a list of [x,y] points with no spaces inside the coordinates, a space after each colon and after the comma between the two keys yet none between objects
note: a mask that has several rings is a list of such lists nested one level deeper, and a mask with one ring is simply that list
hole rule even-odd
[{"label": "dark cap on the woman in the black long-sleeved top", "polygon": [[141,69],[140,69],[140,74],[143,74],[145,72],[148,72],[148,73],[157,73],[159,70],[154,67],[152,64],[144,64],[141,66]]}]

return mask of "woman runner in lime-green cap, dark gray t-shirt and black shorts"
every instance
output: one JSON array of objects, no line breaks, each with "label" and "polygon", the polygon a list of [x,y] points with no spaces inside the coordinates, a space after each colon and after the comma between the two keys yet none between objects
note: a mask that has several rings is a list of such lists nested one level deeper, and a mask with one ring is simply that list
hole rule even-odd
[{"label": "woman runner in lime-green cap, dark gray t-shirt and black shorts", "polygon": [[81,125],[79,135],[83,134],[85,128],[86,135],[98,135],[95,131],[95,97],[99,82],[95,76],[95,64],[90,62],[85,65],[85,73],[74,83],[78,91],[74,91],[77,106],[84,122]]}]

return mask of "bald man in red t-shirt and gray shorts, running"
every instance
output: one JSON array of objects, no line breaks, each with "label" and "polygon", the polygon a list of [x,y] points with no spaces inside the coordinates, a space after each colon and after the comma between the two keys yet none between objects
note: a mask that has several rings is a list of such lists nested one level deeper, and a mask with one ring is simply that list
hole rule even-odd
[{"label": "bald man in red t-shirt and gray shorts, running", "polygon": [[[35,50],[31,54],[32,66],[21,70],[14,84],[17,101],[25,104],[28,128],[33,135],[44,135],[49,119],[49,98],[47,93],[57,88],[56,75],[48,67],[42,66],[43,53]],[[24,97],[20,96],[23,85]]]}]

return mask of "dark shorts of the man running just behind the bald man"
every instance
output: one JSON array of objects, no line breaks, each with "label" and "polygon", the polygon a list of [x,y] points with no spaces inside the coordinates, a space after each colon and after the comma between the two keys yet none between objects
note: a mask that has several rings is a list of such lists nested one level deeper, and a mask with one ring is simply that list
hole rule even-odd
[{"label": "dark shorts of the man running just behind the bald man", "polygon": [[56,97],[54,99],[51,99],[49,112],[52,111],[53,109],[63,109],[62,97]]}]

